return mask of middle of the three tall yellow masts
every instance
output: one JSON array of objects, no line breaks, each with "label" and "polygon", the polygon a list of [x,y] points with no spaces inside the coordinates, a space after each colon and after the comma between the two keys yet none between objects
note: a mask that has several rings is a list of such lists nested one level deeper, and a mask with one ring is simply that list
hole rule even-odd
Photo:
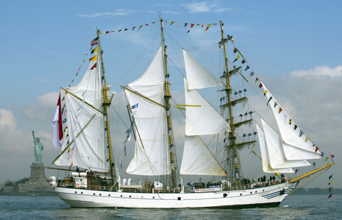
[{"label": "middle of the three tall yellow masts", "polygon": [[[169,72],[168,72],[168,61],[167,61],[167,55],[166,55],[166,45],[165,45],[165,41],[164,41],[164,32],[163,32],[163,20],[161,19],[160,15],[159,15],[159,20],[160,20],[160,30],[161,30],[161,34],[162,34],[162,42],[163,42],[163,49],[164,49],[164,63],[165,63],[165,76],[169,76]],[[170,87],[169,87],[170,83],[169,80],[165,80],[164,83],[164,90],[165,90],[165,95],[164,95],[164,99],[165,99],[165,107],[167,109],[167,122],[168,122],[168,128],[167,130],[170,132],[169,135],[169,152],[170,152],[170,161],[171,161],[171,184],[173,187],[177,186],[177,176],[178,176],[178,167],[177,167],[177,160],[175,157],[175,147],[173,147],[173,129],[172,129],[172,122],[171,122],[171,109],[170,109]]]}]

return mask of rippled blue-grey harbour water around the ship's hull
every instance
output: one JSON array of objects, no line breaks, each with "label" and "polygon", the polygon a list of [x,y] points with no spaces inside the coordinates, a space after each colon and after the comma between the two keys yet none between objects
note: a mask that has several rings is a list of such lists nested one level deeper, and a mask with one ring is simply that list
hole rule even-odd
[{"label": "rippled blue-grey harbour water around the ship's hull", "polygon": [[278,208],[115,209],[70,208],[57,196],[0,196],[0,219],[341,219],[342,195],[290,196]]}]

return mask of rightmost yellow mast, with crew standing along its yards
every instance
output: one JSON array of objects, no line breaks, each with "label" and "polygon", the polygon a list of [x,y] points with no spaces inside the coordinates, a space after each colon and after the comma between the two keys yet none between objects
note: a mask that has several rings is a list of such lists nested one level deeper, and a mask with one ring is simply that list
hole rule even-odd
[{"label": "rightmost yellow mast, with crew standing along its yards", "polygon": [[[236,151],[236,137],[235,137],[235,130],[234,130],[234,122],[233,122],[233,114],[232,114],[232,102],[230,94],[232,93],[232,87],[230,84],[229,79],[229,69],[228,69],[228,58],[226,53],[226,43],[224,38],[224,32],[223,32],[223,23],[222,20],[220,20],[220,26],[221,26],[221,34],[222,34],[222,42],[223,42],[223,48],[224,48],[224,57],[225,57],[225,65],[226,65],[226,84],[225,84],[225,91],[227,95],[228,100],[228,111],[229,111],[229,123],[231,126],[231,132],[229,132],[228,135],[228,145],[226,145],[226,151],[227,151],[227,161],[225,164],[225,172],[228,175],[228,179],[231,181],[232,184],[239,184],[240,179],[242,176],[242,169],[241,169],[241,163],[239,160],[239,156]],[[227,135],[226,135],[227,136]],[[235,157],[237,162],[235,163]],[[236,178],[236,171],[239,178]]]}]

